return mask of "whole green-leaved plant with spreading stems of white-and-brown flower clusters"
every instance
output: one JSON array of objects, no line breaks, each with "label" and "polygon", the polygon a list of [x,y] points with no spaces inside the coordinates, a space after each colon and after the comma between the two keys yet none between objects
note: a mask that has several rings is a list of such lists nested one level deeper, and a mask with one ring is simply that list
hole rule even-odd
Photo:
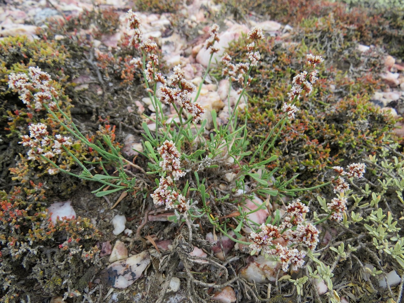
[{"label": "whole green-leaved plant with spreading stems of white-and-brown flower clusters", "polygon": [[[343,193],[349,189],[349,185],[343,177],[360,178],[365,170],[364,164],[351,164],[347,167],[346,172],[343,168],[335,166],[333,169],[338,174],[336,177],[311,188],[287,189],[288,180],[278,183],[276,186],[269,185],[275,170],[268,172],[265,165],[275,160],[276,157],[265,157],[276,144],[282,128],[297,115],[299,110],[296,106],[297,101],[312,92],[312,85],[318,76],[315,68],[316,65],[322,63],[322,57],[311,54],[306,56],[308,70],[293,78],[292,88],[287,94],[288,102],[284,103],[281,108],[284,112],[282,118],[252,154],[248,150],[246,142],[246,122],[240,122],[238,114],[241,110],[239,105],[246,96],[246,88],[252,81],[250,72],[261,59],[261,55],[255,48],[258,40],[264,38],[261,29],[254,27],[248,33],[251,42],[246,47],[248,62],[232,63],[233,59],[227,54],[224,54],[221,59],[221,63],[224,65],[222,76],[228,77],[231,85],[237,85],[240,89],[234,105],[230,104],[230,98],[228,98],[229,117],[227,123],[220,125],[217,113],[214,110],[210,113],[206,112],[198,103],[213,54],[219,51],[218,48],[215,48],[215,43],[219,41],[219,26],[211,27],[210,38],[205,43],[205,48],[210,50],[210,59],[202,83],[197,88],[184,78],[185,74],[180,65],[174,67],[173,74],[167,78],[159,73],[157,44],[143,38],[139,29],[140,20],[132,11],[128,12],[127,17],[128,28],[132,32],[130,44],[142,52],[142,57],[133,58],[130,64],[134,68],[140,69],[155,113],[147,117],[154,123],[154,131],[149,129],[147,123],[143,123],[144,134],[142,135],[145,139],[143,144],[147,152],[141,152],[149,161],[147,173],[159,177],[156,179],[157,186],[153,193],[148,193],[153,203],[156,206],[163,206],[165,210],[174,209],[176,216],[172,219],[185,221],[189,231],[187,239],[189,244],[193,240],[194,221],[209,223],[214,231],[218,230],[234,242],[247,245],[251,254],[262,252],[267,257],[274,256],[282,263],[282,270],[286,271],[289,267],[297,270],[304,264],[306,255],[313,257],[319,235],[316,225],[327,219],[341,221],[344,218],[347,199]],[[139,184],[137,178],[130,175],[126,166],[135,166],[143,173],[146,171],[126,160],[120,154],[120,150],[112,145],[108,136],[105,135],[103,139],[109,150],[100,144],[90,142],[61,110],[58,96],[49,85],[49,80],[50,76],[37,67],[31,67],[28,75],[11,74],[9,77],[9,86],[19,92],[20,98],[28,107],[33,110],[46,110],[71,134],[71,137],[62,137],[60,134],[50,135],[48,126],[42,122],[29,125],[30,134],[21,136],[20,142],[29,147],[28,158],[52,164],[54,169],[49,170],[49,174],[61,171],[84,180],[101,183],[101,187],[94,191],[97,196],[106,196],[121,190],[134,192]],[[167,112],[170,109],[177,114],[177,120],[168,117]],[[215,135],[206,136],[207,120],[204,115],[211,115]],[[201,124],[197,125],[199,122]],[[103,160],[99,164],[103,169],[103,175],[91,173],[74,155],[72,148],[74,148],[75,142],[72,140],[87,145],[102,156]],[[62,168],[55,161],[56,156],[64,154],[74,158],[82,168],[80,175]],[[255,163],[257,157],[259,162]],[[117,174],[109,174],[105,169],[106,163],[116,168]],[[211,189],[212,181],[208,180],[207,175],[212,173],[215,168],[226,170],[231,175],[231,178],[228,179],[232,186],[231,193],[220,196],[219,191]],[[202,179],[200,175],[205,177]],[[250,186],[246,185],[246,180]],[[280,196],[281,193],[295,196],[299,191],[326,185],[333,185],[334,192],[338,192],[339,195],[326,204],[328,213],[322,219],[314,220],[314,223],[306,220],[309,207],[300,199],[286,206],[288,215],[284,217],[283,221],[281,221],[279,212],[273,218],[268,217],[264,223],[248,219],[252,213],[265,208],[264,203],[258,204],[256,208],[250,210],[246,210],[236,203],[229,203],[232,213],[224,214],[222,217],[218,216],[222,213],[218,204],[230,199],[230,194],[234,198],[237,190],[242,191],[242,197],[239,200],[240,204],[243,204],[243,200],[248,196],[269,197]],[[189,194],[190,192],[191,194]],[[236,238],[230,236],[229,230],[233,230]],[[240,240],[243,236],[242,230],[246,235],[249,230],[248,238],[252,242]],[[300,246],[307,246],[307,252],[299,250]]]}]

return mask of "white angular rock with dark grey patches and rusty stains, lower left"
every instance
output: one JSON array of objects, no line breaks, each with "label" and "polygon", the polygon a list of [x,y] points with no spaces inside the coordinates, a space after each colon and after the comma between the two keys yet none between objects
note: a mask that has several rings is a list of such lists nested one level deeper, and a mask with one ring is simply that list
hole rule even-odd
[{"label": "white angular rock with dark grey patches and rusty stains, lower left", "polygon": [[126,288],[140,278],[150,263],[147,250],[109,265],[101,274],[101,280],[114,288]]}]

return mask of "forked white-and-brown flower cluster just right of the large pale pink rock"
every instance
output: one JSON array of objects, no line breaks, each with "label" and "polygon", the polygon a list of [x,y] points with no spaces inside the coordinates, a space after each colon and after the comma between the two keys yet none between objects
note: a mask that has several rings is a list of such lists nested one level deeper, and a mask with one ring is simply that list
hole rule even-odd
[{"label": "forked white-and-brown flower cluster just right of the large pale pink rock", "polygon": [[[250,59],[251,63],[231,63],[232,58],[227,54],[223,54],[221,58],[221,63],[225,66],[222,69],[222,76],[229,76],[231,81],[239,82],[240,85],[244,86],[245,76],[249,72],[251,66],[257,66],[258,61],[261,59],[259,51],[255,50],[255,40],[264,39],[262,34],[262,29],[254,27],[250,32],[248,32],[248,38],[253,40],[247,45],[247,57]],[[250,84],[252,78],[248,76],[247,85]]]}]

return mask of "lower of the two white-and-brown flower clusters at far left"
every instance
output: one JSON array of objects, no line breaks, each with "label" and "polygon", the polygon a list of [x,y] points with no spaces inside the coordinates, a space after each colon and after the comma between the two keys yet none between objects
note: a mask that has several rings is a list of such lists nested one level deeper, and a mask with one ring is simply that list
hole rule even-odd
[{"label": "lower of the two white-and-brown flower clusters at far left", "polygon": [[[69,137],[62,137],[61,135],[56,135],[55,139],[52,139],[49,136],[49,132],[47,127],[43,123],[31,124],[28,126],[29,136],[22,135],[20,144],[23,146],[28,146],[31,149],[28,151],[28,160],[39,160],[40,155],[50,159],[55,156],[55,154],[59,155],[62,151],[64,151],[63,147],[68,147],[72,145]],[[49,145],[53,140],[52,151],[44,152],[42,147]],[[55,174],[54,169],[50,169],[50,175]]]}]

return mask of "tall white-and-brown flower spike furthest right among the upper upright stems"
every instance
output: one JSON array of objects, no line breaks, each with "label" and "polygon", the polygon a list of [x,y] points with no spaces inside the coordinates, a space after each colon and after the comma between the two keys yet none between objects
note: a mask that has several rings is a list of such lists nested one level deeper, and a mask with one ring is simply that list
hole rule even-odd
[{"label": "tall white-and-brown flower spike furthest right among the upper upright stems", "polygon": [[290,89],[290,93],[288,93],[290,103],[284,103],[282,106],[282,111],[288,115],[288,119],[295,118],[295,113],[299,110],[295,106],[295,102],[300,99],[303,91],[305,92],[305,96],[307,96],[313,90],[312,84],[318,79],[318,70],[316,70],[315,67],[317,64],[324,61],[321,56],[314,56],[311,54],[307,54],[306,60],[309,65],[309,71],[304,71],[293,78],[293,86]]}]

